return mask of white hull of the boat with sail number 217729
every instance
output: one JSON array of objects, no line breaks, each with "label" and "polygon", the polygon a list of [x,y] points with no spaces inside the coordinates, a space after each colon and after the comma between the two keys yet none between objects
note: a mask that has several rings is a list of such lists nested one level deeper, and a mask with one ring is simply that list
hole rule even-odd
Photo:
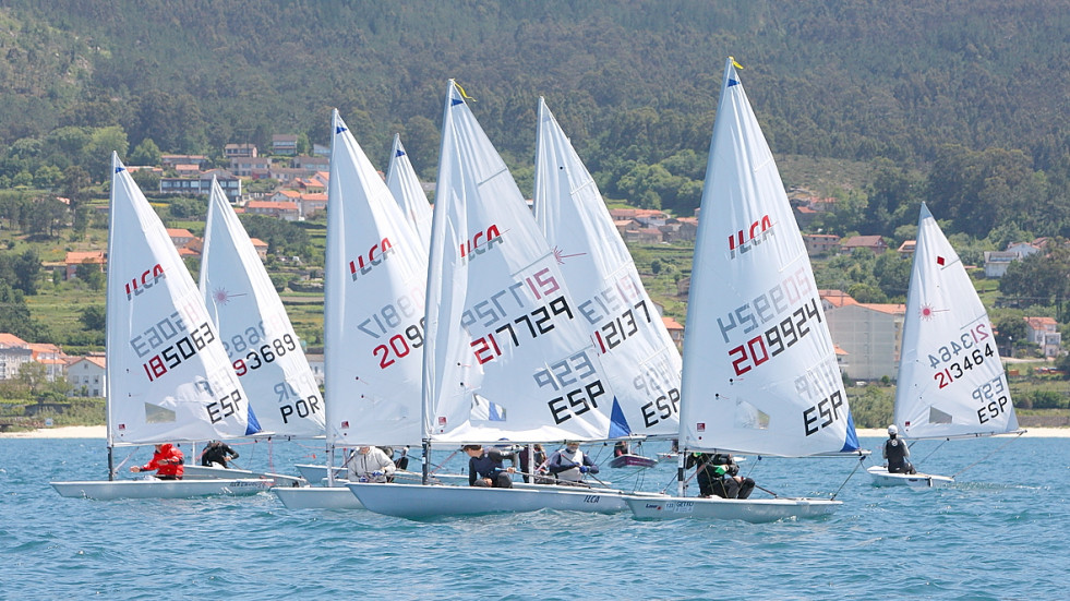
[{"label": "white hull of the boat with sail number 217729", "polygon": [[613,514],[628,510],[622,491],[555,485],[484,489],[424,484],[348,484],[365,508],[405,518],[557,509]]}]

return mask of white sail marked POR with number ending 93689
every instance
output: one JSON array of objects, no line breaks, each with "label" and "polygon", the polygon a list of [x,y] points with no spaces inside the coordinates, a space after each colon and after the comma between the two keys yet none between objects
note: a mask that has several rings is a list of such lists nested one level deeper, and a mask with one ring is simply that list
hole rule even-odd
[{"label": "white sail marked POR with number ending 93689", "polygon": [[200,288],[261,428],[274,434],[322,436],[323,400],[301,341],[215,178]]}]

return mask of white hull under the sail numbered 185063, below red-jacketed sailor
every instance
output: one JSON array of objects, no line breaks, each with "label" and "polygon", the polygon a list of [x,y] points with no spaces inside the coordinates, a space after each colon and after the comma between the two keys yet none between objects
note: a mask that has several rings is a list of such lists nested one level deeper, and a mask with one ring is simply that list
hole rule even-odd
[{"label": "white hull under the sail numbered 185063, below red-jacketed sailor", "polygon": [[225,494],[256,494],[272,486],[270,480],[98,480],[86,482],[50,482],[60,496],[97,498],[189,498]]}]

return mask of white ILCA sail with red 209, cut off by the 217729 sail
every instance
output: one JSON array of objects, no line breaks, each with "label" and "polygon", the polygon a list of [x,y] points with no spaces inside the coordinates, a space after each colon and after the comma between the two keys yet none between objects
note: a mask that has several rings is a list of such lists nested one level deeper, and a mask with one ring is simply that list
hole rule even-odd
[{"label": "white ILCA sail with red 209, cut off by the 217729 sail", "polygon": [[327,436],[419,444],[424,247],[333,113],[324,299]]}]

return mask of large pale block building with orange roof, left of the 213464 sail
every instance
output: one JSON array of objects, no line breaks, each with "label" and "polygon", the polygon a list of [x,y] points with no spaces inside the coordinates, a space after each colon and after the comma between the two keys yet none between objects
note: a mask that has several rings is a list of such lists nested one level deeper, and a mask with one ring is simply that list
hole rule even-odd
[{"label": "large pale block building with orange roof, left of the 213464 sail", "polygon": [[[852,380],[873,381],[899,372],[903,304],[859,303],[841,296],[821,297],[832,342],[843,350],[841,370]],[[850,299],[850,300],[847,300]]]}]

